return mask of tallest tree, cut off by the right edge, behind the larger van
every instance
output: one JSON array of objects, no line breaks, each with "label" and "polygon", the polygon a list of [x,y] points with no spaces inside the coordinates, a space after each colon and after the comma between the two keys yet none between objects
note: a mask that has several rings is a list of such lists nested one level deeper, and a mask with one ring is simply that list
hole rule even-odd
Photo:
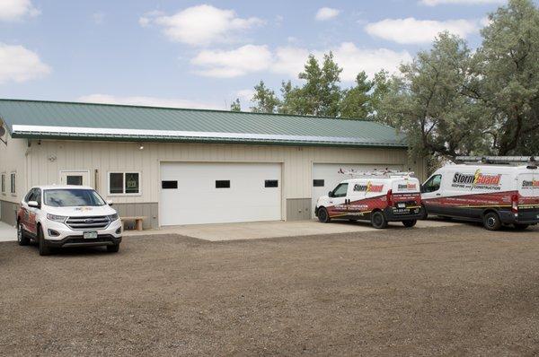
[{"label": "tallest tree, cut off by the right edge, behind the larger van", "polygon": [[491,135],[500,155],[537,154],[539,9],[530,0],[510,0],[489,20],[467,94],[495,120]]}]

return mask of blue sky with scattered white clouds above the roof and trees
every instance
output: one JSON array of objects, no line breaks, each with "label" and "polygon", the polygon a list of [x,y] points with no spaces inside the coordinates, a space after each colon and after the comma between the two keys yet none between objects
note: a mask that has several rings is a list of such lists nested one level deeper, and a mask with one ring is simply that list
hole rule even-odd
[{"label": "blue sky with scattered white clouds above the roof and trees", "polygon": [[480,43],[502,0],[0,0],[0,98],[228,109],[332,50],[342,85],[438,30]]}]

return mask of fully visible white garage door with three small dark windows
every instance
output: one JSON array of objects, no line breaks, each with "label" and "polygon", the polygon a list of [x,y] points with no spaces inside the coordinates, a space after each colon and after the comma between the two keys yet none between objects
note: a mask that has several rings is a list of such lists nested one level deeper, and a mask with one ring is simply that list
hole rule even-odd
[{"label": "fully visible white garage door with three small dark windows", "polygon": [[162,225],[278,221],[278,163],[163,162]]}]

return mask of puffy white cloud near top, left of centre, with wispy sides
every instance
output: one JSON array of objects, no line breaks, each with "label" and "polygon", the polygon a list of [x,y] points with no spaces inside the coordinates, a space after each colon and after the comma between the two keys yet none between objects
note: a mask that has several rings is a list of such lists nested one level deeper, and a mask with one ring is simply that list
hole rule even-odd
[{"label": "puffy white cloud near top, left of centre, with wispy sides", "polygon": [[163,27],[168,39],[191,46],[231,42],[242,31],[264,23],[257,17],[241,18],[234,10],[218,9],[208,4],[188,7],[171,16],[149,13],[138,22],[142,26],[155,23]]}]

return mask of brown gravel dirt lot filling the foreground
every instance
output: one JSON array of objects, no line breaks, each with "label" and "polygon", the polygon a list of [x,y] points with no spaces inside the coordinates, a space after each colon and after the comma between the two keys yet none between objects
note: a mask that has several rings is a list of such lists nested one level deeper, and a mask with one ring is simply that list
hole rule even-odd
[{"label": "brown gravel dirt lot filling the foreground", "polygon": [[0,354],[533,355],[538,233],[0,243]]}]

